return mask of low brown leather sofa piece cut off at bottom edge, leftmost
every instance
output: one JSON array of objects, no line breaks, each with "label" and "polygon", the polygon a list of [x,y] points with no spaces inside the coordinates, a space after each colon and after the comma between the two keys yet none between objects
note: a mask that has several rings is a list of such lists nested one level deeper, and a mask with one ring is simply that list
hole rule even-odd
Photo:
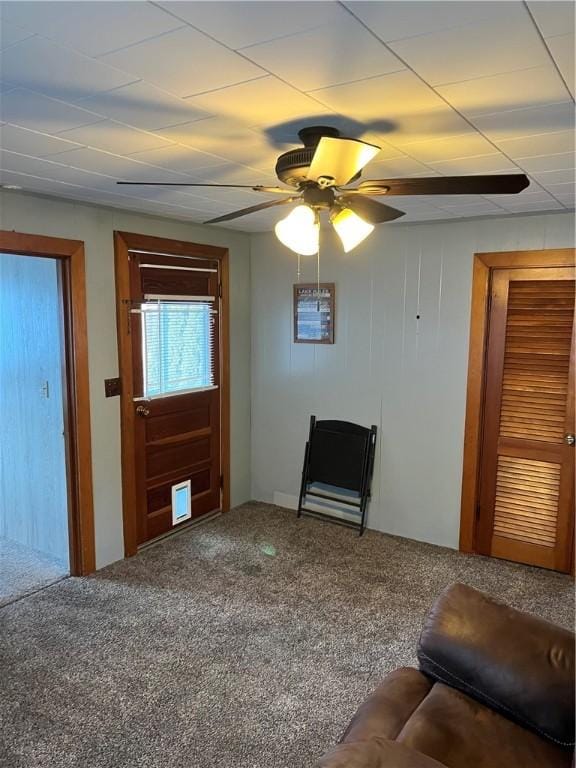
[{"label": "low brown leather sofa piece cut off at bottom edge, leftmost", "polygon": [[316,763],[316,768],[445,768],[421,752],[397,741],[374,738],[340,744]]}]

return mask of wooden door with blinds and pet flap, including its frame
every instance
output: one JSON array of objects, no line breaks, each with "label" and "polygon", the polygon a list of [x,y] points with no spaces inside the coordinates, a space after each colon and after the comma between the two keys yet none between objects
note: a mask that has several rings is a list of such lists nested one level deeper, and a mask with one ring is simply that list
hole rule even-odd
[{"label": "wooden door with blinds and pet flap, including its frame", "polygon": [[124,551],[230,506],[228,251],[117,232]]}]

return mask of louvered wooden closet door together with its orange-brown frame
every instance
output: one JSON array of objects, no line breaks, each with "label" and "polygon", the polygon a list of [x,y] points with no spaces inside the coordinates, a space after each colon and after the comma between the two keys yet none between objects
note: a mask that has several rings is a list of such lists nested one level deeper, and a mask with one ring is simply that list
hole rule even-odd
[{"label": "louvered wooden closet door together with its orange-brown frame", "polygon": [[460,549],[574,570],[575,251],[476,254]]}]

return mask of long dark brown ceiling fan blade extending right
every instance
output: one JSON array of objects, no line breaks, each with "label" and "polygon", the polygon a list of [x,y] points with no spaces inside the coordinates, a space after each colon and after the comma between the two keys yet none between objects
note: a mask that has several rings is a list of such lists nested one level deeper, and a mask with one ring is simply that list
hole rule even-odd
[{"label": "long dark brown ceiling fan blade extending right", "polygon": [[530,180],[523,173],[420,176],[411,179],[368,179],[358,186],[358,192],[364,195],[514,195],[529,184]]}]

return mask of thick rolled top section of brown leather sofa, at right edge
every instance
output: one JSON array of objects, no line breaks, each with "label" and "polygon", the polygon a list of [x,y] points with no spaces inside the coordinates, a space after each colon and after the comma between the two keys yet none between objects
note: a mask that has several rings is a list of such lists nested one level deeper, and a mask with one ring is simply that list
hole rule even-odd
[{"label": "thick rolled top section of brown leather sofa, at right edge", "polygon": [[421,671],[563,747],[574,746],[574,634],[464,584],[436,600]]}]

